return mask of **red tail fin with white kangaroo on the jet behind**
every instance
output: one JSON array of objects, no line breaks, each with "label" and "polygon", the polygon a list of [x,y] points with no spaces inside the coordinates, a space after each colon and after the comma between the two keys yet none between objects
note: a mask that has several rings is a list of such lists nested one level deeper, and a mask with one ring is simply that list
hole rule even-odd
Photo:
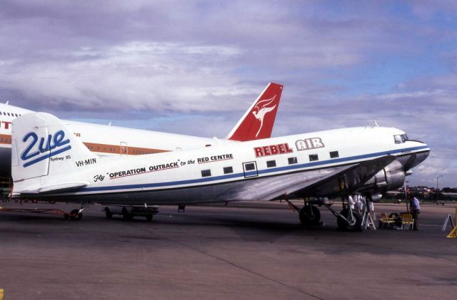
[{"label": "red tail fin with white kangaroo on the jet behind", "polygon": [[265,90],[258,96],[256,102],[244,113],[241,120],[227,136],[228,140],[260,140],[271,138],[276,112],[283,86],[277,83],[268,83]]}]

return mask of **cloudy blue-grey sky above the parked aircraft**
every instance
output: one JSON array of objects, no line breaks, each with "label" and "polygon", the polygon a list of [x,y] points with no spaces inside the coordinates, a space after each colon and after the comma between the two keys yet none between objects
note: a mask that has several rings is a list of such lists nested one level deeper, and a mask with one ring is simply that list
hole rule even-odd
[{"label": "cloudy blue-grey sky above the parked aircraft", "polygon": [[224,138],[273,81],[273,136],[376,120],[457,187],[457,1],[2,0],[0,45],[1,102]]}]

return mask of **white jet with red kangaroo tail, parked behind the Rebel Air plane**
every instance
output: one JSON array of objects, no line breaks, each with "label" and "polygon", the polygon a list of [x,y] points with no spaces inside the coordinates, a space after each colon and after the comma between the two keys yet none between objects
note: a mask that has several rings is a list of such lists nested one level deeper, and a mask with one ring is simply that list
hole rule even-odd
[{"label": "white jet with red kangaroo tail, parked behind the Rebel Air plane", "polygon": [[[215,143],[270,138],[283,86],[268,83],[251,107],[223,140],[151,130],[63,120],[71,133],[97,155],[142,155],[202,148]],[[31,110],[0,103],[0,177],[11,173],[11,122]]]}]

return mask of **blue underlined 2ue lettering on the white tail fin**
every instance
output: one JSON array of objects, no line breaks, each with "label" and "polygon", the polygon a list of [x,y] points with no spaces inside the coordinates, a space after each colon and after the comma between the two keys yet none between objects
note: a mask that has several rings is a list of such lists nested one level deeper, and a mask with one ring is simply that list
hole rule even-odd
[{"label": "blue underlined 2ue lettering on the white tail fin", "polygon": [[[36,162],[41,162],[41,160],[46,160],[46,158],[71,149],[71,145],[62,148],[62,146],[70,143],[68,138],[65,140],[65,133],[62,130],[57,131],[54,135],[48,135],[46,139],[38,138],[36,133],[27,133],[24,135],[24,138],[22,138],[24,143],[27,143],[29,140],[29,145],[21,153],[21,159],[26,161],[23,165],[24,167],[29,167],[30,165],[36,164]],[[51,150],[54,150],[54,152],[51,152]],[[40,154],[44,155],[39,156]],[[33,160],[31,160],[32,158]]]}]

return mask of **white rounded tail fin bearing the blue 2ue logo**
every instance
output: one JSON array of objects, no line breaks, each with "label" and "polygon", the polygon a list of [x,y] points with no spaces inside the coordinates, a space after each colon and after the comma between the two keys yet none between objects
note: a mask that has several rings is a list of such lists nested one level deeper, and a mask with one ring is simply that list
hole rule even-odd
[{"label": "white rounded tail fin bearing the blue 2ue logo", "polygon": [[54,115],[28,113],[12,123],[15,192],[51,192],[89,185],[81,171],[96,165],[97,160]]}]

